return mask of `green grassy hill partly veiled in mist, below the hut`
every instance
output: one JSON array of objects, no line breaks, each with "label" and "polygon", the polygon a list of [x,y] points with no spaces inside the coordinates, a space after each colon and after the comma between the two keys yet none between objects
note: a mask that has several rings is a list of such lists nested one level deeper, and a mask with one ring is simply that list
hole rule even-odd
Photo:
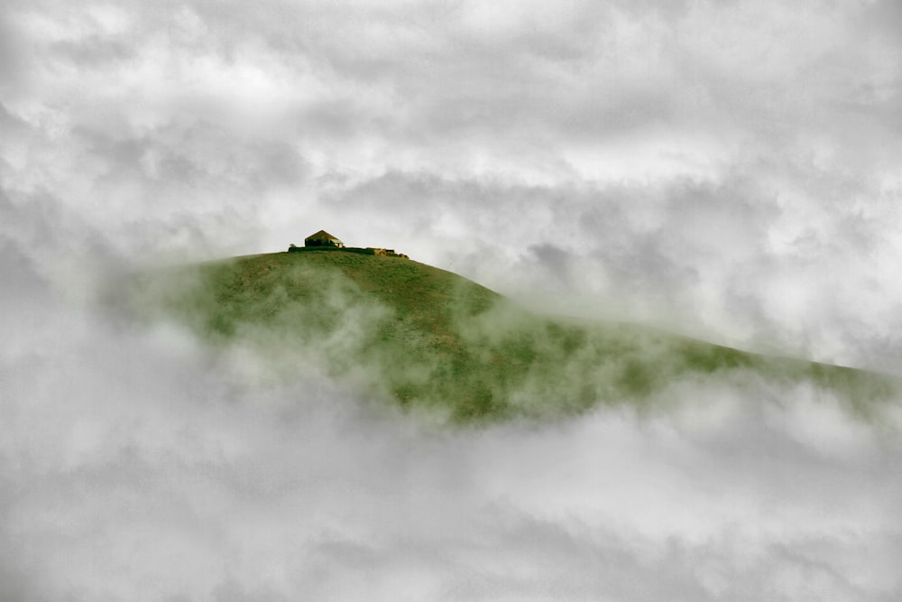
[{"label": "green grassy hill partly veiled in mist, below the hut", "polygon": [[860,412],[895,383],[626,324],[550,319],[414,261],[333,250],[275,253],[144,274],[147,316],[175,316],[211,345],[244,346],[272,374],[314,367],[407,409],[453,421],[648,405],[668,384],[810,382]]}]

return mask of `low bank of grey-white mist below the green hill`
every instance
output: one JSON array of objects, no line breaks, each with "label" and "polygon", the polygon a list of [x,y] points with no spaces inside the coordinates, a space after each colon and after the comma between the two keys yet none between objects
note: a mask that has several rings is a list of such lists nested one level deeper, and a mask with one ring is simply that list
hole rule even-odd
[{"label": "low bank of grey-white mist below the green hill", "polygon": [[448,429],[313,364],[272,379],[253,347],[100,313],[26,266],[4,264],[31,302],[0,321],[0,537],[16,551],[0,570],[16,599],[902,588],[895,405],[872,424],[805,384],[715,377],[667,386],[667,411]]}]

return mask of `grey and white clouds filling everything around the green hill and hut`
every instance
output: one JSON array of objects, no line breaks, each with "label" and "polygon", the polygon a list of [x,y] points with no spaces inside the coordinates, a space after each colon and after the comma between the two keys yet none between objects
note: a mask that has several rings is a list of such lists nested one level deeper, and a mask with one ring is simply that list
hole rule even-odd
[{"label": "grey and white clouds filling everything around the green hill and hut", "polygon": [[92,299],[325,228],[902,373],[900,77],[893,0],[5,0],[0,597],[898,599],[898,421],[705,383],[432,431]]}]

